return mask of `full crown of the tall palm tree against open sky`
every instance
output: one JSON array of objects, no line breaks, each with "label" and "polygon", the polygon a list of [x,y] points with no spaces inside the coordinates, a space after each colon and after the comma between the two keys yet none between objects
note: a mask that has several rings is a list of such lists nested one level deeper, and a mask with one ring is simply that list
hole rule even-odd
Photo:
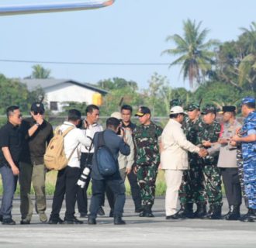
[{"label": "full crown of the tall palm tree against open sky", "polygon": [[196,24],[195,20],[192,22],[190,19],[184,21],[184,37],[178,34],[168,36],[166,41],[173,41],[176,47],[162,52],[162,54],[180,56],[169,67],[182,64],[183,79],[185,81],[186,78],[189,78],[191,88],[193,88],[195,80],[200,84],[207,72],[212,69],[215,55],[213,49],[220,44],[217,40],[209,40],[204,43],[209,30],[202,29],[200,31],[201,24],[202,22]]}]

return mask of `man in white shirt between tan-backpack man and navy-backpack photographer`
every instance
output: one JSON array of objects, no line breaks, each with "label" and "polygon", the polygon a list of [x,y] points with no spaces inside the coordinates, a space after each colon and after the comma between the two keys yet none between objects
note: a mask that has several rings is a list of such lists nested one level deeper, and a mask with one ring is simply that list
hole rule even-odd
[{"label": "man in white shirt between tan-backpack man and navy-backpack photographer", "polygon": [[[99,107],[96,105],[88,105],[85,109],[86,114],[86,127],[82,131],[86,136],[93,139],[95,133],[102,132],[102,125],[98,123],[99,121]],[[84,171],[85,167],[92,167],[92,156],[94,153],[94,146],[81,146],[81,173]],[[88,200],[87,200],[87,190],[89,183],[91,181],[91,175],[89,174],[85,183],[84,188],[78,188],[78,212],[81,218],[85,218],[88,212]],[[102,199],[102,205],[104,199]],[[98,215],[104,215],[103,208],[99,208]]]}]

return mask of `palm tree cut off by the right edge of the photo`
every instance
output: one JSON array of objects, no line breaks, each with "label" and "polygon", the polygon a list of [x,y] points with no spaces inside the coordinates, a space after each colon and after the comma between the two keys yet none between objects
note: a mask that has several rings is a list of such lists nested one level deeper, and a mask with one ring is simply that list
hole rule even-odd
[{"label": "palm tree cut off by the right edge of the photo", "polygon": [[247,55],[240,61],[238,67],[239,84],[243,85],[245,81],[251,84],[254,90],[256,81],[256,22],[251,22],[250,29],[241,28],[244,36],[247,38]]}]

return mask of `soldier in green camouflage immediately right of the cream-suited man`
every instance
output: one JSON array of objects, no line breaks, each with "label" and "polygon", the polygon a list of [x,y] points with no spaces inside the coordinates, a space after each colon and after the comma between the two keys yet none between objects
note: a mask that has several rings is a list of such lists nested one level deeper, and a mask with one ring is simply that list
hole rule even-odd
[{"label": "soldier in green camouflage immediately right of the cream-suited man", "polygon": [[[204,125],[200,117],[199,104],[189,104],[187,112],[189,116],[185,116],[182,129],[187,140],[197,146],[199,145],[199,132],[202,131]],[[183,172],[182,185],[179,190],[182,206],[179,215],[182,218],[201,218],[206,215],[206,198],[200,161],[197,153],[189,153],[190,170]],[[197,205],[195,213],[193,213],[193,203]]]}]

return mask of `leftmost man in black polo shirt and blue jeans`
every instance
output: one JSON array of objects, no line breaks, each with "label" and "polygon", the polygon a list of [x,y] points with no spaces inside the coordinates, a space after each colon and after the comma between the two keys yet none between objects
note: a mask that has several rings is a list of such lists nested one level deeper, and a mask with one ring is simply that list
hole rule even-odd
[{"label": "leftmost man in black polo shirt and blue jeans", "polygon": [[12,200],[19,174],[19,154],[22,146],[19,125],[22,114],[18,106],[10,106],[6,109],[6,115],[8,122],[0,129],[0,174],[3,185],[0,221],[3,225],[15,225],[16,222],[12,219]]}]

